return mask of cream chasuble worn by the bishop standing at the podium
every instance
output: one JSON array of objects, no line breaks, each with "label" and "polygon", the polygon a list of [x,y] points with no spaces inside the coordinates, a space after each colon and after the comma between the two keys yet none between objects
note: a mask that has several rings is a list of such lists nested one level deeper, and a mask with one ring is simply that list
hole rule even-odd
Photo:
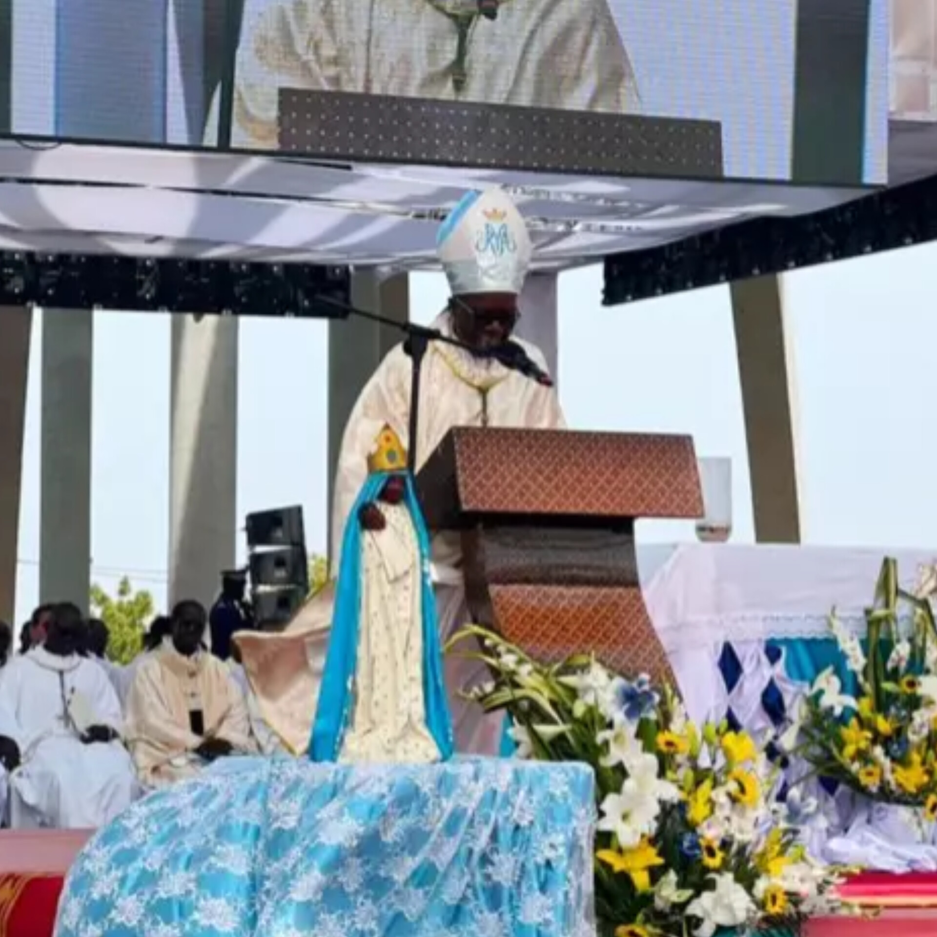
[{"label": "cream chasuble worn by the bishop standing at the podium", "polygon": [[[450,333],[449,316],[433,327]],[[546,370],[543,354],[518,341]],[[397,346],[364,387],[342,439],[335,475],[333,505],[333,572],[340,562],[342,535],[349,513],[367,477],[367,456],[374,440],[389,425],[403,442],[408,436],[410,359]],[[562,429],[565,426],[556,391],[491,360],[472,357],[452,346],[431,344],[424,358],[420,390],[417,470],[454,426],[502,426]],[[383,506],[382,506],[383,507]],[[457,534],[432,537],[433,585],[442,644],[468,624],[462,578],[462,551]],[[316,711],[320,678],[328,647],[334,591],[323,590],[299,612],[282,634],[239,635],[245,670],[260,707],[291,751],[305,751]],[[468,649],[468,643],[466,646]],[[487,678],[484,665],[447,656],[445,680],[457,751],[497,754],[503,714],[485,716],[462,692]]]}]

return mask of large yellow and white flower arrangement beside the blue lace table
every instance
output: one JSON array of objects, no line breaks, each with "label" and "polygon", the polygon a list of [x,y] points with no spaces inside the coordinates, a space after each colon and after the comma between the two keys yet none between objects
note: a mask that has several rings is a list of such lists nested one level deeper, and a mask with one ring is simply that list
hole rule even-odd
[{"label": "large yellow and white flower arrangement beside the blue lace table", "polygon": [[596,913],[602,937],[796,933],[836,906],[840,882],[796,844],[774,804],[763,747],[726,725],[699,729],[677,696],[592,657],[553,666],[470,626],[450,644],[493,679],[472,692],[506,710],[519,757],[580,761],[596,776]]}]

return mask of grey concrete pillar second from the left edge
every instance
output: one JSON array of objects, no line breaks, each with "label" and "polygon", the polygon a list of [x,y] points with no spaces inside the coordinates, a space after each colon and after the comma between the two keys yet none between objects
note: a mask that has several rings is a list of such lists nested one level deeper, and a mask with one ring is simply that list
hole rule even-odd
[{"label": "grey concrete pillar second from the left edge", "polygon": [[95,314],[42,313],[39,601],[87,609],[91,586],[91,376]]}]

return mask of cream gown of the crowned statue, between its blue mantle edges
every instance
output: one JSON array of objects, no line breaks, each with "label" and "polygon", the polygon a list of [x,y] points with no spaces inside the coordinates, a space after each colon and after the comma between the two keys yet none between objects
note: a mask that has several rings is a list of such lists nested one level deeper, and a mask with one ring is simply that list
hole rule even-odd
[{"label": "cream gown of the crowned statue, between its blue mantle edges", "polygon": [[380,511],[387,526],[362,534],[354,704],[340,760],[438,761],[424,706],[420,546],[405,504]]}]

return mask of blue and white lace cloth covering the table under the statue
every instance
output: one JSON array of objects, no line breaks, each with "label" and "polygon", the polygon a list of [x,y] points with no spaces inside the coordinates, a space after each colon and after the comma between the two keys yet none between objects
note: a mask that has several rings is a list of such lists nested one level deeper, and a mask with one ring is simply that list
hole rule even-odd
[{"label": "blue and white lace cloth covering the table under the statue", "polygon": [[68,873],[56,937],[592,937],[591,769],[244,758]]}]

